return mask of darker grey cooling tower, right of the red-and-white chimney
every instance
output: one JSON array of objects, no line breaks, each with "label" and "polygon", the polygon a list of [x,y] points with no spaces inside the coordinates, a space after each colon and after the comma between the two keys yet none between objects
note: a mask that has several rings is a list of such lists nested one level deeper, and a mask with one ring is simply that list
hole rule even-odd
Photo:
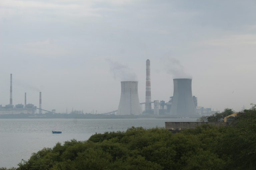
[{"label": "darker grey cooling tower, right of the red-and-white chimney", "polygon": [[192,79],[173,79],[173,99],[170,114],[178,117],[194,117],[195,104],[192,97]]}]

